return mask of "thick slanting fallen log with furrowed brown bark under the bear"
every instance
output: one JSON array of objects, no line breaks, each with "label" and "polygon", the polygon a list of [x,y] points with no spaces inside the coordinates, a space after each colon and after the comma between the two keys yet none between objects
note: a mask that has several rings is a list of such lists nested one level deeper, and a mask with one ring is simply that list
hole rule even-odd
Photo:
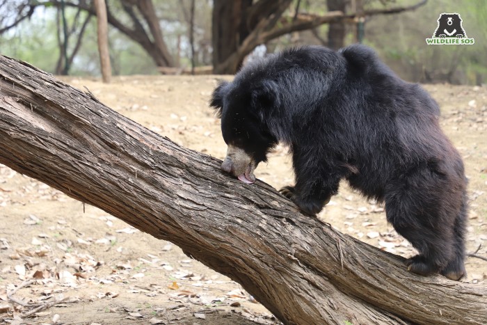
[{"label": "thick slanting fallen log with furrowed brown bark under the bear", "polygon": [[104,209],[240,283],[285,324],[485,324],[487,287],[404,258],[221,173],[50,74],[0,56],[0,163]]}]

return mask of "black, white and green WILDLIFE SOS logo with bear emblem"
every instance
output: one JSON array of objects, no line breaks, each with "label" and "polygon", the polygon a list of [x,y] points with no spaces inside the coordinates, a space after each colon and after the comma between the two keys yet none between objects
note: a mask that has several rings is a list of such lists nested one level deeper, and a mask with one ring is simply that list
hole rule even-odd
[{"label": "black, white and green WILDLIFE SOS logo with bear emblem", "polygon": [[442,13],[437,20],[438,26],[431,38],[426,38],[428,45],[473,45],[475,40],[468,38],[463,29],[463,20],[458,13]]}]

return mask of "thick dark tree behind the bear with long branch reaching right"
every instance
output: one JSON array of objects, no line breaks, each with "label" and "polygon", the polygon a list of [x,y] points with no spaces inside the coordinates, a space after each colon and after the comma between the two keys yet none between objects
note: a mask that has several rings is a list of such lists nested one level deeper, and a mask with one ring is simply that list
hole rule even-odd
[{"label": "thick dark tree behind the bear with long branch reaching right", "polygon": [[[335,2],[334,2],[335,1]],[[357,13],[330,11],[324,15],[289,11],[292,0],[252,0],[225,1],[214,0],[212,15],[213,71],[216,74],[234,74],[239,66],[257,45],[265,44],[295,31],[314,29],[322,24],[354,22]],[[298,5],[300,1],[296,3]],[[398,6],[385,9],[372,9],[360,12],[362,16],[386,15],[415,10],[426,0],[412,6]],[[342,0],[330,0],[332,8],[344,8]],[[336,5],[336,7],[335,7]],[[298,8],[298,6],[297,6]],[[289,15],[284,15],[289,11]],[[337,33],[331,42],[333,46],[343,44],[342,26],[335,26]],[[330,40],[329,40],[330,42]],[[336,44],[335,44],[336,43]]]}]

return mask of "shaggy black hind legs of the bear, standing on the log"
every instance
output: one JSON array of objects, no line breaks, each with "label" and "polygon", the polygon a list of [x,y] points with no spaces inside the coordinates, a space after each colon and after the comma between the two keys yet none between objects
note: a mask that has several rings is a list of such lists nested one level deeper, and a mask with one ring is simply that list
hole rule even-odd
[{"label": "shaggy black hind legs of the bear, standing on the log", "polygon": [[463,264],[463,255],[458,253],[463,248],[458,246],[463,245],[463,236],[455,229],[458,208],[447,200],[445,184],[438,183],[429,172],[417,171],[388,184],[385,191],[388,221],[419,251],[408,260],[408,270],[423,276],[442,270],[453,276],[461,272],[459,261]]}]

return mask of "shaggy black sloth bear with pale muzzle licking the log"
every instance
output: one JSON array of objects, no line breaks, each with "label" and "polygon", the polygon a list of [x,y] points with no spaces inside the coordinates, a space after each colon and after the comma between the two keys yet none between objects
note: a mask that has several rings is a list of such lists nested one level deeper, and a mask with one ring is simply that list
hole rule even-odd
[{"label": "shaggy black sloth bear with pale muzzle licking the log", "polygon": [[388,222],[419,251],[416,274],[465,274],[463,162],[438,123],[438,104],[397,77],[374,51],[301,47],[244,66],[214,90],[227,157],[221,168],[246,183],[279,141],[292,152],[296,184],[280,190],[317,214],[351,187],[385,202]]}]

